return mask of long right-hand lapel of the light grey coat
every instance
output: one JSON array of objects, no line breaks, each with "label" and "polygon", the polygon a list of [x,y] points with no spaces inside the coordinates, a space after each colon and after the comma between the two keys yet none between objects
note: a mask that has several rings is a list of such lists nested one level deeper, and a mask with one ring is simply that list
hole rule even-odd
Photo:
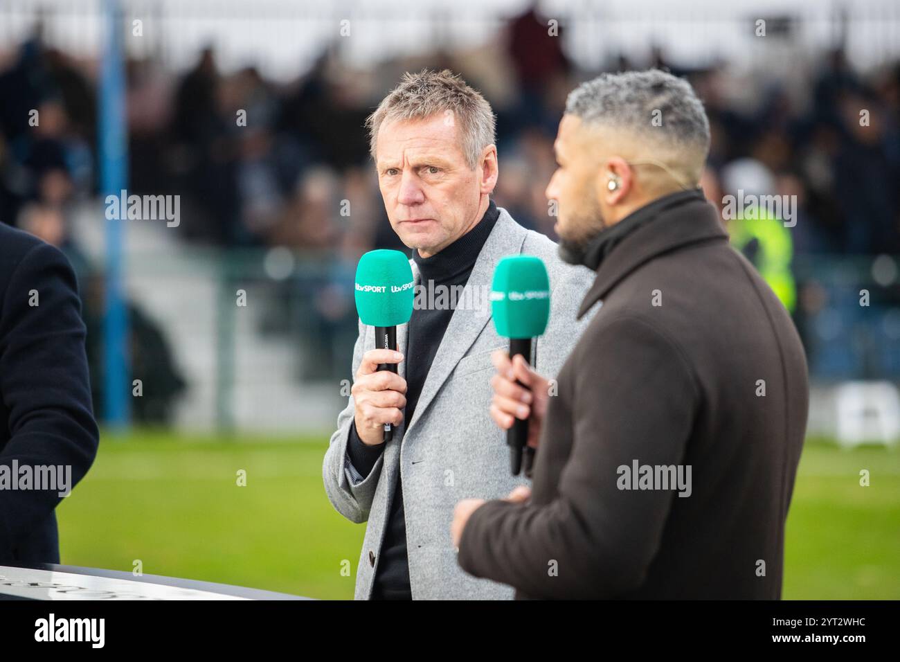
[{"label": "long right-hand lapel of the light grey coat", "polygon": [[[491,305],[487,301],[487,297],[483,297],[482,294],[490,291],[497,262],[504,256],[515,255],[521,252],[526,235],[526,229],[513,221],[509,213],[501,207],[500,217],[494,224],[488,240],[484,242],[482,252],[478,254],[478,258],[475,260],[472,274],[469,276],[463,291],[462,300],[473,302],[473,305],[469,308],[457,308],[453,313],[453,317],[450,318],[450,323],[447,324],[447,329],[444,333],[444,339],[441,340],[441,344],[437,348],[435,360],[428,370],[425,385],[422,386],[422,393],[419,395],[416,411],[412,415],[412,420],[406,426],[406,432],[412,430],[416,422],[428,410],[428,405],[431,404],[441,386],[446,382],[447,377],[453,372],[456,364],[459,363],[459,359],[465,356],[465,352],[472,347],[473,342],[484,329],[484,325],[491,319]],[[418,280],[418,269],[415,269],[414,275]],[[398,337],[398,347],[406,347],[405,331],[404,325],[404,344],[399,344],[400,338]]]}]

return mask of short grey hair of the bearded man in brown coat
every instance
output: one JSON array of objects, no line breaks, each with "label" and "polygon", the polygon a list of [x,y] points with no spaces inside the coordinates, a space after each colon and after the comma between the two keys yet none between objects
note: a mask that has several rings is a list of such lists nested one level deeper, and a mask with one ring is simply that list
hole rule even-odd
[{"label": "short grey hair of the bearded man in brown coat", "polygon": [[572,90],[565,112],[668,148],[698,149],[703,159],[709,151],[709,120],[694,88],[660,69],[601,74]]}]

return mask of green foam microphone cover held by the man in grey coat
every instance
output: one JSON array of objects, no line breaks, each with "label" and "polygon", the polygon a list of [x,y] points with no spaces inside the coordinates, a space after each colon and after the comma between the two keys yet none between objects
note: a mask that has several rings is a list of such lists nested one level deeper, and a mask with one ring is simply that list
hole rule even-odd
[{"label": "green foam microphone cover held by the man in grey coat", "polygon": [[415,298],[410,259],[399,250],[370,250],[356,265],[356,312],[369,326],[410,321]]}]

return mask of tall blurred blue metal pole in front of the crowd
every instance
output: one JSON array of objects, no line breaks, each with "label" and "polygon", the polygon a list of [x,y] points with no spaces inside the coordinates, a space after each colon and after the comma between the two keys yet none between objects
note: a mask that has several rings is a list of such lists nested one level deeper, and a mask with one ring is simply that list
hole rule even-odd
[{"label": "tall blurred blue metal pole in front of the crowd", "polygon": [[[128,182],[128,144],[125,127],[125,81],[122,53],[122,13],[118,0],[103,2],[103,59],[98,113],[101,192],[119,199]],[[124,201],[122,205],[127,204]],[[107,214],[110,215],[110,214]],[[117,216],[118,214],[116,214]],[[103,408],[106,422],[127,428],[130,422],[128,315],[124,302],[122,244],[127,219],[105,221],[106,311],[103,319]]]}]

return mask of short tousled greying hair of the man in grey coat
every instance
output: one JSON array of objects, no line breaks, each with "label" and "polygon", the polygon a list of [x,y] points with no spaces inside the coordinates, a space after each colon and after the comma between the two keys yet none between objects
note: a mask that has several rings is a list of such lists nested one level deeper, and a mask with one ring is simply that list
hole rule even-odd
[{"label": "short tousled greying hair of the man in grey coat", "polygon": [[400,85],[383,98],[365,121],[372,158],[375,159],[378,129],[385,120],[424,120],[444,113],[452,113],[466,163],[475,168],[484,148],[494,144],[497,122],[491,104],[449,69],[403,74]]}]

